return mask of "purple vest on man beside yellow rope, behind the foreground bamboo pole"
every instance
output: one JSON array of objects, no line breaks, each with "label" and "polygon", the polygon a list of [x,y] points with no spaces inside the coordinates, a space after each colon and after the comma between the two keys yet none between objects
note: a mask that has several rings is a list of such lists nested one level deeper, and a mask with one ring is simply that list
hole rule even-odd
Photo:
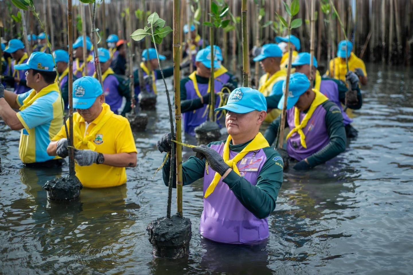
[{"label": "purple vest on man beside yellow rope, behind the foreground bamboo pole", "polygon": [[[223,75],[220,75],[218,78],[216,78],[214,81],[215,93],[220,92],[222,89],[222,86],[225,83],[227,83],[228,80],[230,80],[230,76],[227,73],[224,73]],[[207,95],[208,83],[205,83],[205,84],[198,83],[198,89],[199,89],[199,93],[202,96]],[[197,92],[195,91],[194,82],[192,82],[192,80],[185,83],[185,90],[186,90],[186,99],[198,99],[199,98],[197,95]],[[218,108],[220,101],[221,100],[217,98],[216,108]],[[207,121],[208,112],[206,113],[205,111],[206,109],[207,109],[207,104],[202,106],[202,108],[182,114],[185,133],[195,136],[195,131],[194,131],[195,127]],[[204,113],[206,113],[206,115],[203,117]]]}]

